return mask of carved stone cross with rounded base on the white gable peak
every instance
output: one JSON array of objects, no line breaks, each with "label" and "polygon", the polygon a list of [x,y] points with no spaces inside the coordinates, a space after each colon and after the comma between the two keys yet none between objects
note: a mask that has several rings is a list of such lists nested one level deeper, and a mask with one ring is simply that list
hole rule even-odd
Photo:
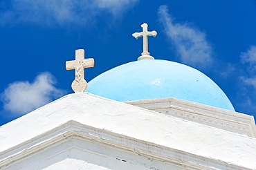
[{"label": "carved stone cross with rounded base on the white gable peak", "polygon": [[84,59],[84,50],[75,50],[75,60],[66,62],[66,70],[75,69],[75,79],[72,82],[72,89],[75,93],[82,93],[87,88],[84,79],[84,68],[93,67],[94,59]]}]

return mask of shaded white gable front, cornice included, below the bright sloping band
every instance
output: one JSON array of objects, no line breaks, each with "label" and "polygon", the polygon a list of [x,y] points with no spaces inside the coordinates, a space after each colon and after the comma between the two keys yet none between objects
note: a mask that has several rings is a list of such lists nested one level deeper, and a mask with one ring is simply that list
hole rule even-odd
[{"label": "shaded white gable front, cornice included, below the bright sloping band", "polygon": [[5,159],[1,153],[0,169],[247,169],[74,121],[6,153]]}]

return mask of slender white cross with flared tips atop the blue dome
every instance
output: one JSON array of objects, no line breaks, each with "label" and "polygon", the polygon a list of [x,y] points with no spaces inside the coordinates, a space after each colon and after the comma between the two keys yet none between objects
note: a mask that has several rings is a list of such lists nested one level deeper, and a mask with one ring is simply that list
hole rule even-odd
[{"label": "slender white cross with flared tips atop the blue dome", "polygon": [[141,53],[142,56],[138,58],[138,60],[141,59],[154,59],[154,57],[150,56],[150,53],[148,52],[148,41],[147,41],[147,36],[153,36],[156,37],[157,32],[155,30],[149,32],[147,31],[147,23],[143,23],[141,25],[143,28],[143,32],[135,32],[132,34],[133,37],[138,39],[138,37],[143,37],[143,53]]}]

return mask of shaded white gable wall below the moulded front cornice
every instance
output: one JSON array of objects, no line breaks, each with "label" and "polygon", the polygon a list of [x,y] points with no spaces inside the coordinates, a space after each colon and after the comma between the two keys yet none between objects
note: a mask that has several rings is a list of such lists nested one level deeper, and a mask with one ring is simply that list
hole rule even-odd
[{"label": "shaded white gable wall below the moulded front cornice", "polygon": [[21,159],[3,169],[185,169],[134,151],[124,151],[115,146],[102,144],[72,135],[61,144],[52,144],[28,158]]}]

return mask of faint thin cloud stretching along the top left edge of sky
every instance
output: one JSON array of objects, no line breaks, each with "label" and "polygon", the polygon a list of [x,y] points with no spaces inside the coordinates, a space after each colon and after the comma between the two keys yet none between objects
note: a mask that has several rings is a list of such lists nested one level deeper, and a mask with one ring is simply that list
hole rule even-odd
[{"label": "faint thin cloud stretching along the top left edge of sky", "polygon": [[98,15],[121,16],[137,0],[10,0],[1,2],[0,24],[37,23],[47,26],[75,24],[86,26]]}]

